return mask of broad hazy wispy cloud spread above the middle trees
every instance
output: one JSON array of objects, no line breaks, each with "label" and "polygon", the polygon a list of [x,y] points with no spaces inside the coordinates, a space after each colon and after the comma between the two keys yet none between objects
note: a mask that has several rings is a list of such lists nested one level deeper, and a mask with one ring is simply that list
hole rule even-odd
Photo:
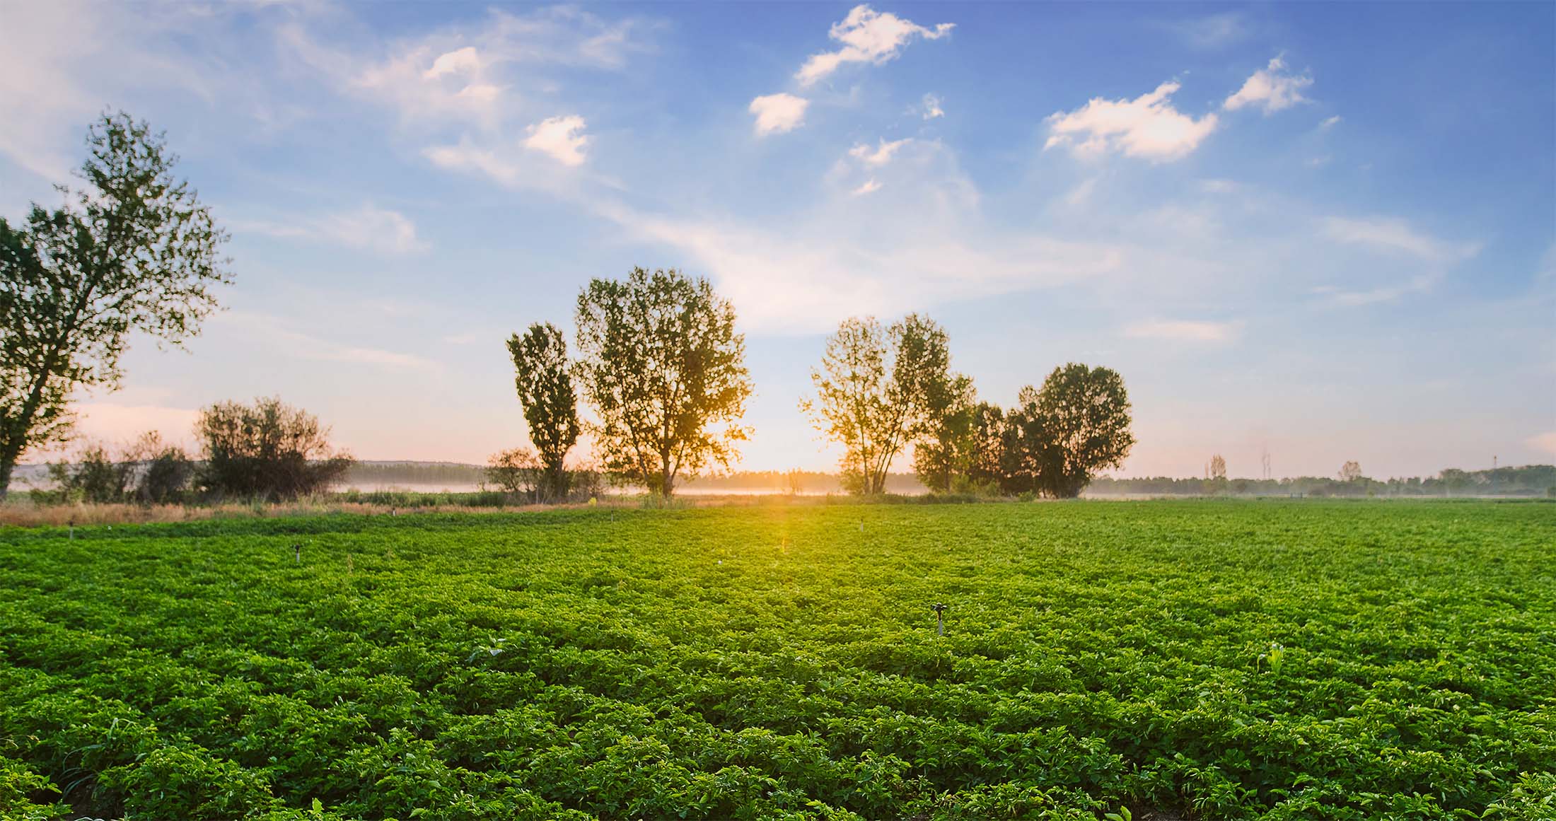
[{"label": "broad hazy wispy cloud spread above the middle trees", "polygon": [[[977,211],[977,191],[938,143],[902,146],[893,196],[874,176],[781,219],[649,213],[601,205],[630,238],[664,246],[708,272],[759,333],[815,333],[857,313],[893,314],[948,300],[1049,288],[1108,275],[1108,244],[1005,233]],[[871,148],[879,151],[879,146]]]}]

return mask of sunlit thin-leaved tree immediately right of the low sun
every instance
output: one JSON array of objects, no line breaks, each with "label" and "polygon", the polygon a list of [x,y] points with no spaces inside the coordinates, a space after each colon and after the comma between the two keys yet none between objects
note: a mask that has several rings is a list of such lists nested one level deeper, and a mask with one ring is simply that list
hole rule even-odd
[{"label": "sunlit thin-leaved tree immediately right of the low sun", "polygon": [[826,341],[822,367],[811,372],[815,397],[800,403],[818,431],[843,446],[843,485],[853,493],[885,491],[892,460],[944,418],[971,384],[952,384],[946,331],[909,314],[890,328],[874,317],[845,319]]}]

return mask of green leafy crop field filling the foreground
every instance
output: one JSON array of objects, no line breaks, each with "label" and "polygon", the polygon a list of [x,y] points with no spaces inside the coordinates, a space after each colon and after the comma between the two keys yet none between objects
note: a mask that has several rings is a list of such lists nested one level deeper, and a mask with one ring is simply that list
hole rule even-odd
[{"label": "green leafy crop field filling the foreground", "polygon": [[1556,504],[0,532],[5,818],[1553,818],[1553,768]]}]

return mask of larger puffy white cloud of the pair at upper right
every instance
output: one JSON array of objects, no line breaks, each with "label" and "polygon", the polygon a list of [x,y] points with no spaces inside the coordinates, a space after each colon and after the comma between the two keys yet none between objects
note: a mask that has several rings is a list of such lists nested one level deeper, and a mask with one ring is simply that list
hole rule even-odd
[{"label": "larger puffy white cloud of the pair at upper right", "polygon": [[1207,114],[1195,120],[1173,109],[1170,98],[1178,87],[1169,81],[1134,100],[1097,96],[1072,112],[1053,114],[1043,148],[1069,146],[1081,157],[1122,151],[1151,162],[1181,159],[1215,131],[1217,118]]}]

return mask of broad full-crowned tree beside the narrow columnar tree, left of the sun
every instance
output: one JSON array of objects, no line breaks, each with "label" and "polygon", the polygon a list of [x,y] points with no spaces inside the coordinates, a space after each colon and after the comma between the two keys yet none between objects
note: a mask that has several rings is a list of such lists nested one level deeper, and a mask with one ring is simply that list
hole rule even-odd
[{"label": "broad full-crowned tree beside the narrow columnar tree, left of the sun", "polygon": [[669,496],[680,477],[728,466],[752,379],[734,308],[708,280],[636,267],[591,280],[577,302],[577,376],[605,468]]}]

